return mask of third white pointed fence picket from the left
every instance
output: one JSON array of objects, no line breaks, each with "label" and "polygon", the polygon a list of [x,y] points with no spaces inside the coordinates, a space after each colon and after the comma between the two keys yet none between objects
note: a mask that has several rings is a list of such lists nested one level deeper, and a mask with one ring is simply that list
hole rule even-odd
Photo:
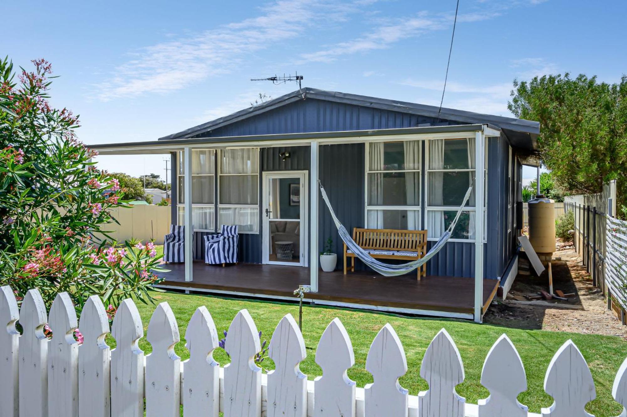
[{"label": "third white pointed fence picket from the left", "polygon": [[56,294],[48,324],[48,414],[50,417],[78,416],[78,327],[76,311],[67,292]]}]

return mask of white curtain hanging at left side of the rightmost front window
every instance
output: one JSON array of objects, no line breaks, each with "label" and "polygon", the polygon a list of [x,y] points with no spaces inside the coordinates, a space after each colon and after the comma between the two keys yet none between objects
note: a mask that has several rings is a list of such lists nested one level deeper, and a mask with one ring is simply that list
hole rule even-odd
[{"label": "white curtain hanging at left side of the rightmost front window", "polygon": [[[429,140],[429,169],[441,170],[444,168],[444,139]],[[428,205],[441,206],[443,204],[444,176],[442,172],[429,172]],[[437,238],[445,232],[444,212],[429,210],[427,212],[427,236]]]}]

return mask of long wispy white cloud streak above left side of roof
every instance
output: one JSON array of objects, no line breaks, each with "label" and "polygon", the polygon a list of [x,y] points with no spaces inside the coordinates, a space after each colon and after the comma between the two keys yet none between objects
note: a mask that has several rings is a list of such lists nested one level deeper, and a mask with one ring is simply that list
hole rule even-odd
[{"label": "long wispy white cloud streak above left side of roof", "polygon": [[143,93],[167,93],[209,76],[229,73],[251,53],[293,39],[316,24],[340,22],[350,13],[361,13],[359,3],[360,0],[344,4],[333,0],[275,0],[260,8],[261,14],[255,18],[140,49],[132,54],[132,59],[117,66],[114,75],[96,86],[96,95],[107,101]]}]

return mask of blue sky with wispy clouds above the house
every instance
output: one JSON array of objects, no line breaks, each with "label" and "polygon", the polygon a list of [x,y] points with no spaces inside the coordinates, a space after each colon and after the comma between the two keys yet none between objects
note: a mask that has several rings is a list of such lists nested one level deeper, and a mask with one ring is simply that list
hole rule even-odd
[{"label": "blue sky with wispy clouds above the house", "polygon": [[[438,105],[455,0],[129,1],[4,4],[3,53],[48,59],[53,104],[85,143],[155,140],[295,85]],[[514,78],[626,73],[625,1],[461,0],[444,106],[510,115]],[[132,175],[161,156],[100,157]],[[145,167],[145,168],[144,168]],[[525,175],[529,176],[529,175]]]}]

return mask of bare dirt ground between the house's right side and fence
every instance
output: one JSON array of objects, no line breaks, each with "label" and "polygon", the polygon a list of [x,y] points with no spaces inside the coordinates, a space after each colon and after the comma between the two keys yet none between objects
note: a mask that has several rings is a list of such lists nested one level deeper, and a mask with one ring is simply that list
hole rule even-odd
[{"label": "bare dirt ground between the house's right side and fence", "polygon": [[540,277],[519,274],[507,300],[492,302],[483,321],[517,329],[604,334],[627,339],[627,326],[621,324],[613,311],[608,311],[605,297],[601,290],[592,286],[592,279],[572,245],[558,242],[553,256],[561,258],[552,262],[554,290],[575,295],[569,297],[569,301],[547,302],[564,308],[534,306],[524,297],[540,290],[549,291],[546,271]]}]

